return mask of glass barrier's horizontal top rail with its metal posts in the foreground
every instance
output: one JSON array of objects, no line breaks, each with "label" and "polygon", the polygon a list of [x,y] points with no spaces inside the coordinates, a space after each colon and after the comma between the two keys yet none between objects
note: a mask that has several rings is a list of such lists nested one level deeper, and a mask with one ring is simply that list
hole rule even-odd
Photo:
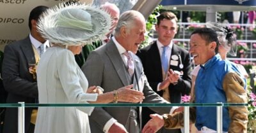
[{"label": "glass barrier's horizontal top rail with its metal posts in the foreground", "polygon": [[94,106],[94,107],[170,107],[170,106],[184,106],[184,130],[185,133],[189,133],[189,106],[205,106],[205,107],[211,107],[216,106],[217,107],[217,133],[222,132],[222,108],[223,106],[248,106],[247,103],[173,103],[173,104],[152,104],[152,103],[109,103],[109,104],[26,104],[24,102],[19,102],[18,104],[0,104],[0,107],[8,107],[8,108],[17,108],[18,107],[18,129],[19,133],[24,133],[24,112],[25,107],[31,108],[31,107],[77,107],[77,106]]}]

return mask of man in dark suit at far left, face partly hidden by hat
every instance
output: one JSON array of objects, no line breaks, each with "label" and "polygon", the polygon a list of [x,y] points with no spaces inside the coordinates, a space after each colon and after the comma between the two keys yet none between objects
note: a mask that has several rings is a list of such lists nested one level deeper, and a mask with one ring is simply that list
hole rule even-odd
[{"label": "man in dark suit at far left, face partly hidden by hat", "polygon": [[[40,49],[45,39],[37,32],[36,22],[40,15],[47,10],[46,6],[37,6],[31,10],[29,15],[30,34],[27,38],[16,41],[4,48],[3,59],[3,83],[8,92],[7,103],[36,103],[38,89],[35,73],[29,73],[29,65],[38,62]],[[25,132],[33,133],[35,117],[32,116],[33,108],[25,108]],[[36,111],[35,111],[36,112]],[[18,132],[18,109],[7,108],[4,118],[4,133]]]}]

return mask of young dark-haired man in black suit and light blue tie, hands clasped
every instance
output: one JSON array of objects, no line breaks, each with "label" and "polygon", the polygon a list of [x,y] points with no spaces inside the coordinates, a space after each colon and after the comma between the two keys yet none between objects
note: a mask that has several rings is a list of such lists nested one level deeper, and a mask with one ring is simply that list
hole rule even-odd
[{"label": "young dark-haired man in black suit and light blue tie, hands clasped", "polygon": [[[137,55],[141,59],[150,87],[166,101],[180,103],[181,95],[190,93],[191,60],[187,50],[173,44],[177,33],[177,17],[172,12],[161,13],[157,17],[156,31],[157,41],[139,50]],[[143,109],[143,124],[150,119],[149,115],[152,113],[154,111],[148,108]]]}]

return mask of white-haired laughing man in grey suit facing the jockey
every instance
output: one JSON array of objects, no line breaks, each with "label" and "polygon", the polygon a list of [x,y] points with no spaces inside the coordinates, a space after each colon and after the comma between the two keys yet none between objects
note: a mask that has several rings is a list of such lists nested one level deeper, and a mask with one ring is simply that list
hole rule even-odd
[{"label": "white-haired laughing man in grey suit facing the jockey", "polygon": [[[145,36],[145,18],[138,11],[125,11],[118,21],[114,37],[109,43],[90,53],[82,67],[89,86],[98,85],[105,92],[125,85],[144,93],[143,102],[167,103],[148,85],[140,59],[134,55]],[[117,95],[117,96],[116,96]],[[118,94],[113,95],[116,101]],[[152,108],[157,113],[170,108]],[[175,108],[171,109],[171,113]],[[92,132],[141,132],[141,109],[134,107],[95,108],[90,118]]]}]

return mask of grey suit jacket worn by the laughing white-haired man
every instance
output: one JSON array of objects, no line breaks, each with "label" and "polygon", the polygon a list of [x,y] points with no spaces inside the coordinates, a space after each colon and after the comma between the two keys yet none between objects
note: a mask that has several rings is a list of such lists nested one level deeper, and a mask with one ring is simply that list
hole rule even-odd
[{"label": "grey suit jacket worn by the laughing white-haired man", "polygon": [[[138,80],[134,80],[133,88],[144,93],[145,99],[143,102],[166,103],[167,101],[157,95],[148,85],[140,59],[134,54],[132,54],[132,59],[134,60],[135,67],[134,76],[136,78],[134,79]],[[88,79],[89,87],[93,85],[100,86],[104,88],[104,92],[111,92],[117,88],[131,84],[125,76],[125,69],[124,61],[112,40],[91,52],[82,67]],[[115,118],[119,123],[125,125],[130,109],[131,107],[95,108],[92,115],[89,116],[91,131],[97,133],[103,132],[103,127],[110,118]],[[170,112],[170,108],[153,109],[160,114]]]}]

